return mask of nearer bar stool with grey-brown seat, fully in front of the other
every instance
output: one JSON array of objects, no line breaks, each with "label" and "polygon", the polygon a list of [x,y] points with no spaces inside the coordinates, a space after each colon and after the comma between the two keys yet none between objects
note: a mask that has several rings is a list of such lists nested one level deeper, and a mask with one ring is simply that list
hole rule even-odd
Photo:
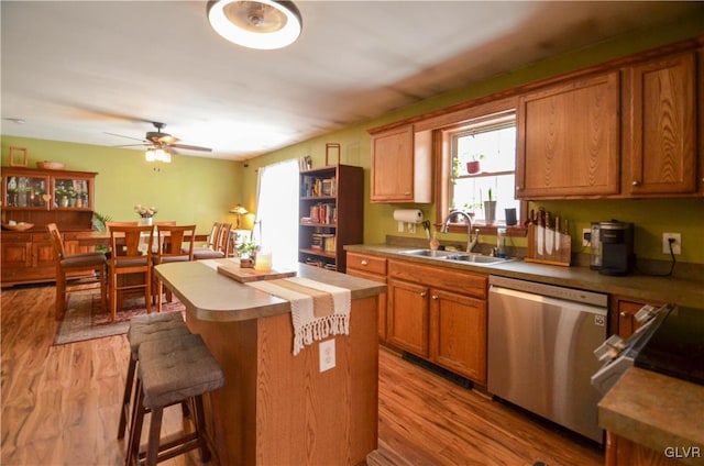
[{"label": "nearer bar stool with grey-brown seat, fully in front of the other", "polygon": [[[127,465],[140,463],[140,439],[144,414],[151,411],[146,465],[172,458],[190,450],[200,450],[200,459],[210,461],[202,396],[221,388],[224,375],[200,335],[183,335],[144,342],[139,350],[138,389]],[[195,407],[195,432],[161,444],[164,408],[189,400]],[[169,437],[170,439],[170,437]]]}]

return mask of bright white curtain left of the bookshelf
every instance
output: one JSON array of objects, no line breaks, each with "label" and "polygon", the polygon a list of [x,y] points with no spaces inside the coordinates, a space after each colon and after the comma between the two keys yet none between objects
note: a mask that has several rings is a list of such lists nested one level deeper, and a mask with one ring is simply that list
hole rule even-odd
[{"label": "bright white curtain left of the bookshelf", "polygon": [[256,223],[253,231],[261,248],[272,252],[274,268],[292,268],[298,262],[298,160],[258,169]]}]

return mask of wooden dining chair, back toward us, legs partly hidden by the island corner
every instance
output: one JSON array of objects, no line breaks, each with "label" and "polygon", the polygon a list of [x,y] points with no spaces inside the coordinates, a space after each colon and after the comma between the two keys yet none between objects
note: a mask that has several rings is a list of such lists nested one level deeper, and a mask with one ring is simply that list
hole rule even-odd
[{"label": "wooden dining chair, back toward us, legs partly hidden by the island corner", "polygon": [[[193,260],[195,241],[196,225],[157,225],[157,252],[154,255],[154,265]],[[162,312],[164,284],[156,274],[153,274],[153,280],[156,284],[156,311]],[[169,290],[166,291],[166,300],[172,300]]]}]

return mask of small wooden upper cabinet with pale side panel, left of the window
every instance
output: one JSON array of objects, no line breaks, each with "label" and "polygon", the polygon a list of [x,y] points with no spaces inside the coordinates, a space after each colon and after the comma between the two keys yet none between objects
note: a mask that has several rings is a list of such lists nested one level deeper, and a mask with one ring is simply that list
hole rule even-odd
[{"label": "small wooden upper cabinet with pale side panel, left of the window", "polygon": [[372,132],[372,202],[431,202],[432,135],[411,124]]}]

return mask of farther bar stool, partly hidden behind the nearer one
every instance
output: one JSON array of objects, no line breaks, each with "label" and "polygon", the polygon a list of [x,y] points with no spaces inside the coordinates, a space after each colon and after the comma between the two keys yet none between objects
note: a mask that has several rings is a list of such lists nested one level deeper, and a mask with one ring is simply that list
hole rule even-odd
[{"label": "farther bar stool, partly hidden behind the nearer one", "polygon": [[128,366],[128,374],[124,381],[124,393],[122,396],[118,439],[124,437],[124,430],[127,428],[128,417],[130,413],[132,390],[134,388],[136,363],[140,357],[140,345],[152,340],[173,339],[188,334],[190,334],[190,332],[188,331],[180,312],[160,312],[156,314],[135,315],[130,320],[130,329],[128,330],[130,364]]}]

